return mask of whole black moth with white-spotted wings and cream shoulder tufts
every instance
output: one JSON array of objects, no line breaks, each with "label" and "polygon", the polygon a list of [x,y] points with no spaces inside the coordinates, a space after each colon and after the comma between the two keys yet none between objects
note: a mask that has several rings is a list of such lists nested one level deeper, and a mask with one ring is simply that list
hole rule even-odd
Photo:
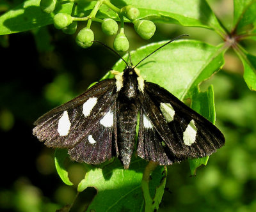
[{"label": "whole black moth with white-spotted wings and cream shoulder tufts", "polygon": [[125,169],[138,115],[137,155],[159,165],[211,155],[224,145],[216,126],[163,87],[143,80],[138,69],[127,64],[124,72],[112,73],[115,79],[98,82],[40,117],[33,134],[48,147],[67,148],[77,162],[98,164],[118,156]]}]

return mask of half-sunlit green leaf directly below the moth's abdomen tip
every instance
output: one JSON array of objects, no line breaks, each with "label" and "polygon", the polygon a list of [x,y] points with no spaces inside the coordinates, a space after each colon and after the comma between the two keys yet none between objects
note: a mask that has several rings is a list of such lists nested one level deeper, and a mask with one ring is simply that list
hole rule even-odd
[{"label": "half-sunlit green leaf directly below the moth's abdomen tip", "polygon": [[[102,169],[92,167],[78,185],[78,192],[88,187],[97,189],[97,195],[87,208],[87,211],[144,211],[145,202],[141,190],[141,179],[147,161],[132,158],[129,169],[125,170],[118,159]],[[152,174],[150,193],[156,193],[161,185],[162,168]],[[157,195],[159,196],[159,195]]]}]

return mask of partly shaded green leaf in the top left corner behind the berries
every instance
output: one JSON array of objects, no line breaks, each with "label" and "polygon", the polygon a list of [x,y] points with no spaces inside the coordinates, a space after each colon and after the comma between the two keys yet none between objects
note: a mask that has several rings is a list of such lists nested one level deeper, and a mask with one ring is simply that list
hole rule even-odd
[{"label": "partly shaded green leaf in the top left corner behind the berries", "polygon": [[[39,4],[40,0],[28,0],[4,13],[0,17],[0,35],[19,33],[52,24],[54,13],[47,14],[42,12]],[[56,8],[56,11],[70,14],[73,4],[62,4]]]}]

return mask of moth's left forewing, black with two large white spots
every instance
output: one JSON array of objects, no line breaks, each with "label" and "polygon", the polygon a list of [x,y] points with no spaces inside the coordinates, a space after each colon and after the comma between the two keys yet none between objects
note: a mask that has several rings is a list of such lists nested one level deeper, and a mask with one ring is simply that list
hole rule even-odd
[{"label": "moth's left forewing, black with two large white spots", "polygon": [[33,134],[47,146],[71,148],[97,126],[116,101],[115,79],[106,79],[35,121]]}]

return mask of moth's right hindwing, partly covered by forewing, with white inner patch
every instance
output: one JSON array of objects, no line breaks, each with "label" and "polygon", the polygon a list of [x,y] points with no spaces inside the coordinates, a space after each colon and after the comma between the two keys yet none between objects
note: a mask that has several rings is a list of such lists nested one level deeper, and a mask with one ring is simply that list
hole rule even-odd
[{"label": "moth's right hindwing, partly covered by forewing, with white inner patch", "polygon": [[137,154],[145,160],[152,160],[159,165],[170,165],[174,162],[184,160],[175,156],[164,144],[163,139],[152,125],[147,115],[140,110],[140,128],[138,135]]}]

